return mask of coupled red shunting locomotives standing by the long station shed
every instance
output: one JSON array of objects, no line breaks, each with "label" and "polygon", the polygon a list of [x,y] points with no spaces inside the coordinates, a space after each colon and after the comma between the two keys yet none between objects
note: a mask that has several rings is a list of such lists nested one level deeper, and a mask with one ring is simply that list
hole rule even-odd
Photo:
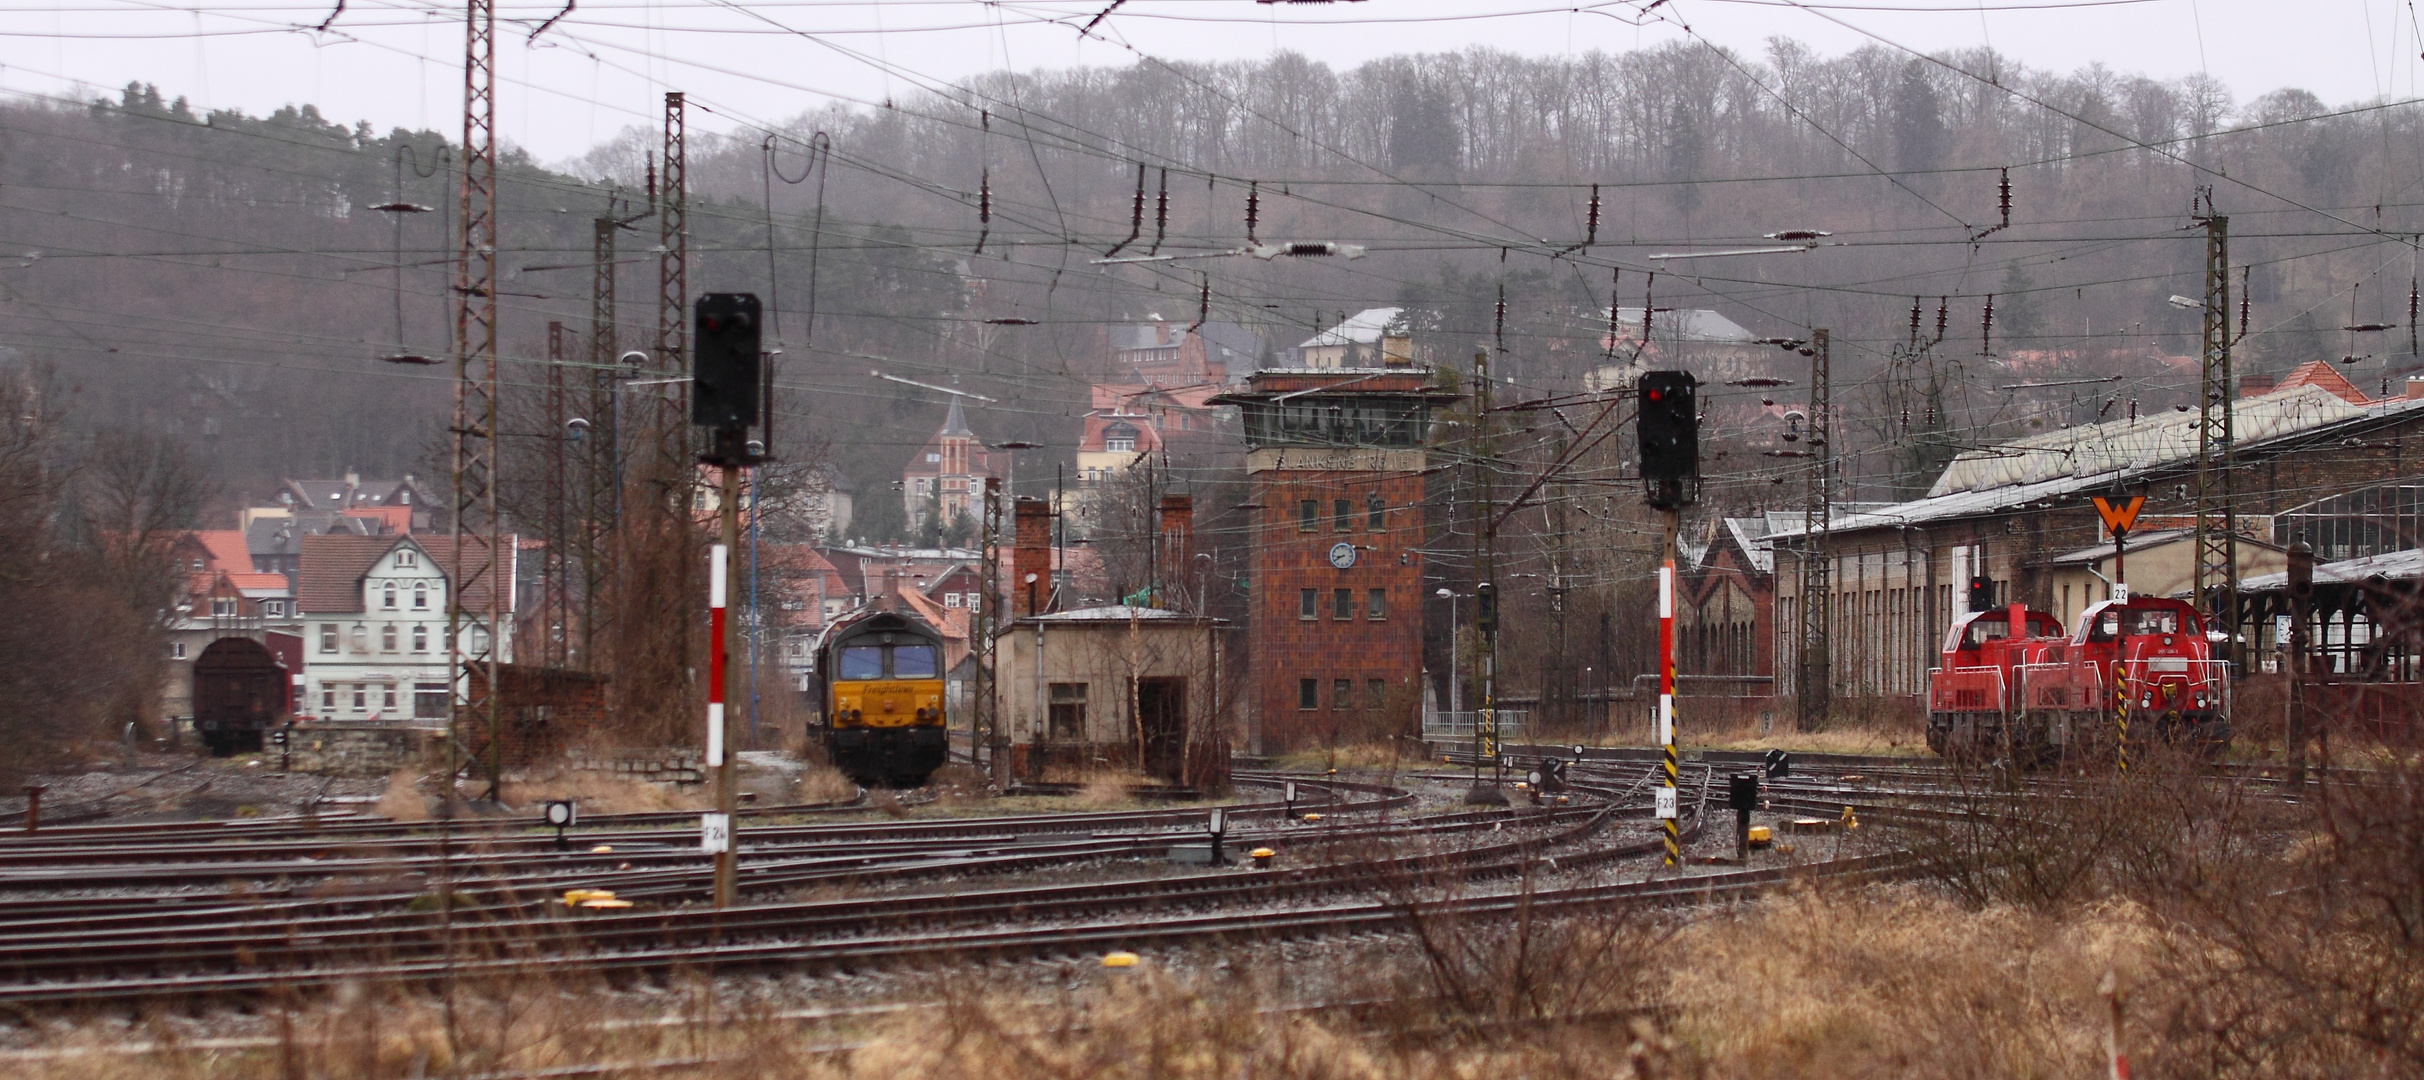
[{"label": "coupled red shunting locomotives standing by the long station shed", "polygon": [[[2014,632],[2017,627],[2017,632]],[[2024,605],[1971,613],[1927,673],[1927,748],[2039,765],[2111,753],[2126,739],[2230,743],[2230,673],[2182,601],[2133,596],[2060,620]]]}]

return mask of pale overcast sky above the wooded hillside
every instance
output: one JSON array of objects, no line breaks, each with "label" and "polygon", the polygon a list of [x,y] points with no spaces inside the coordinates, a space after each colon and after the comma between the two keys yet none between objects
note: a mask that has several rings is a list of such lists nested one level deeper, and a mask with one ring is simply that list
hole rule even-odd
[{"label": "pale overcast sky above the wooded hillside", "polygon": [[[339,121],[461,133],[461,10],[400,0],[0,0],[0,90],[97,94],[155,82],[199,107],[267,114],[320,104]],[[2412,0],[1646,0],[1551,7],[1527,0],[579,0],[499,2],[499,128],[567,160],[628,123],[654,123],[664,90],[708,109],[696,126],[797,116],[827,99],[882,102],[994,68],[1258,58],[1292,48],[1333,68],[1389,53],[1493,46],[1530,56],[1704,39],[1750,56],[1774,34],[1825,56],[1888,39],[1922,51],[1995,46],[2034,68],[2104,63],[2179,77],[2206,70],[2252,99],[2305,87],[2329,104],[2417,97]],[[330,17],[330,31],[315,27]],[[1687,29],[1690,27],[1690,29]],[[1874,34],[1874,36],[1871,36]]]}]

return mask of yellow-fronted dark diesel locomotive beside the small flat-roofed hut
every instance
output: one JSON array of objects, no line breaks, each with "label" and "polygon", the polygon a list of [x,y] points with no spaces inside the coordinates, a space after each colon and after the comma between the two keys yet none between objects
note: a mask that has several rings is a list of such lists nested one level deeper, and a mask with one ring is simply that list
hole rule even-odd
[{"label": "yellow-fronted dark diesel locomotive beside the small flat-roofed hut", "polygon": [[919,787],[943,768],[943,634],[902,610],[861,610],[817,644],[824,731],[810,739],[865,787]]}]

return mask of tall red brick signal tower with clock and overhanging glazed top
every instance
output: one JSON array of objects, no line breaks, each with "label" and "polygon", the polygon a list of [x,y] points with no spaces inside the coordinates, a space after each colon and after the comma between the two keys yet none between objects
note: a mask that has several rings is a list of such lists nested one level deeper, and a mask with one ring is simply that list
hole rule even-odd
[{"label": "tall red brick signal tower with clock and overhanging glazed top", "polygon": [[1454,400],[1411,363],[1258,370],[1212,400],[1244,412],[1248,506],[1260,506],[1246,620],[1256,753],[1413,722],[1425,443],[1433,404]]}]

